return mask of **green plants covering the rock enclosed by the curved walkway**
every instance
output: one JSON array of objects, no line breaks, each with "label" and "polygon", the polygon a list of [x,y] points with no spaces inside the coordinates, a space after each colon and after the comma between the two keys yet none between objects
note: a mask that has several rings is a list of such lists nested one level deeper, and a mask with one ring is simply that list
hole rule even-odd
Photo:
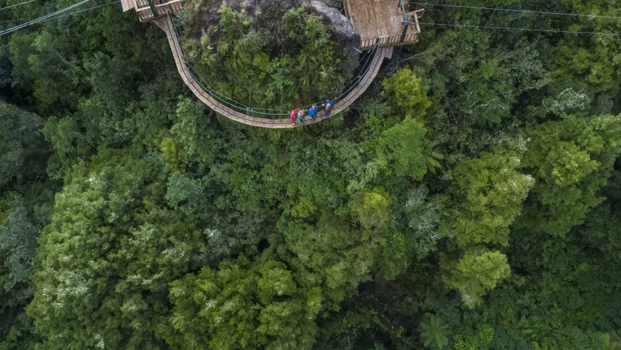
[{"label": "green plants covering the rock enclosed by the curved walkway", "polygon": [[237,9],[223,3],[219,21],[209,26],[201,21],[201,2],[188,8],[182,17],[188,61],[201,81],[246,106],[285,111],[308,106],[334,95],[351,77],[346,52],[308,6],[273,3],[254,8],[253,15],[248,3]]}]

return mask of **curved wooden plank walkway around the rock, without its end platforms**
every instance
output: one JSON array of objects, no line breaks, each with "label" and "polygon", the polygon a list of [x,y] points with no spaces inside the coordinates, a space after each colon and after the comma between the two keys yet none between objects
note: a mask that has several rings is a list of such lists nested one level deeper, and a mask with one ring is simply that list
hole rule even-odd
[{"label": "curved wooden plank walkway around the rock, without its end platforms", "polygon": [[[175,64],[177,64],[177,70],[179,70],[179,75],[184,79],[184,83],[192,90],[194,95],[198,97],[204,104],[209,106],[209,108],[213,109],[215,113],[219,115],[223,115],[229,119],[233,119],[235,121],[239,121],[240,123],[247,124],[250,126],[260,126],[262,128],[295,128],[297,126],[306,126],[310,124],[315,124],[319,121],[326,119],[326,114],[324,110],[320,110],[317,113],[317,118],[315,120],[310,117],[306,117],[306,120],[302,123],[292,124],[289,118],[286,119],[267,119],[267,118],[257,118],[251,117],[250,115],[244,115],[243,113],[239,113],[236,110],[221,104],[217,99],[214,99],[206,93],[206,91],[201,88],[198,81],[194,79],[194,77],[190,74],[190,70],[184,64],[183,54],[181,52],[181,46],[179,45],[179,40],[177,39],[177,35],[175,35],[175,30],[172,28],[172,21],[170,17],[164,16],[159,17],[153,20],[159,28],[166,32],[166,37],[168,37],[168,43],[170,44],[170,49],[172,50],[172,56],[175,57]],[[353,104],[353,102],[366,91],[369,85],[371,85],[371,81],[377,75],[377,72],[380,70],[380,66],[382,66],[382,61],[384,58],[390,58],[393,55],[393,47],[384,47],[380,48],[380,51],[377,52],[375,57],[373,57],[373,61],[371,61],[370,68],[366,71],[366,75],[362,77],[359,81],[358,85],[351,90],[348,95],[337,101],[336,108],[333,111],[332,115],[335,115],[339,112],[342,112],[345,108]],[[293,108],[292,108],[293,109]]]}]

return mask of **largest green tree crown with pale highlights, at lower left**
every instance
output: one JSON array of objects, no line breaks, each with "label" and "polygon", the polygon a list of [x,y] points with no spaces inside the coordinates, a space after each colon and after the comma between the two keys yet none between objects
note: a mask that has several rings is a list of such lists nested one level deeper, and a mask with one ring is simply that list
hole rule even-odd
[{"label": "largest green tree crown with pale highlights, at lower left", "polygon": [[[45,347],[154,347],[167,285],[199,264],[204,233],[163,206],[161,162],[102,148],[57,194],[28,307]],[[79,331],[72,331],[79,329]]]}]

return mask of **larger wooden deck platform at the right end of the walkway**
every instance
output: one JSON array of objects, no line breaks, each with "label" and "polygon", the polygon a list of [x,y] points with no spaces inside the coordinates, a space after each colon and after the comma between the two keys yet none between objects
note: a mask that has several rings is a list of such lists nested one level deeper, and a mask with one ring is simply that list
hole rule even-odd
[{"label": "larger wooden deck platform at the right end of the walkway", "polygon": [[[345,16],[360,34],[360,50],[369,50],[380,41],[381,46],[416,43],[420,33],[418,18],[422,10],[406,12],[400,0],[345,0]],[[404,19],[406,32],[404,35]]]}]

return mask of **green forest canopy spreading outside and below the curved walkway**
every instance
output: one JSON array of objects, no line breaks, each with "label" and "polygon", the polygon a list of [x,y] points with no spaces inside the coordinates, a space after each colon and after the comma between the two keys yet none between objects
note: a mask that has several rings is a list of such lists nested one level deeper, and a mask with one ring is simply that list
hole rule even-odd
[{"label": "green forest canopy spreading outside and below the curved walkway", "polygon": [[342,117],[267,131],[197,101],[116,6],[3,35],[0,349],[619,349],[619,57],[614,36],[423,26]]}]

